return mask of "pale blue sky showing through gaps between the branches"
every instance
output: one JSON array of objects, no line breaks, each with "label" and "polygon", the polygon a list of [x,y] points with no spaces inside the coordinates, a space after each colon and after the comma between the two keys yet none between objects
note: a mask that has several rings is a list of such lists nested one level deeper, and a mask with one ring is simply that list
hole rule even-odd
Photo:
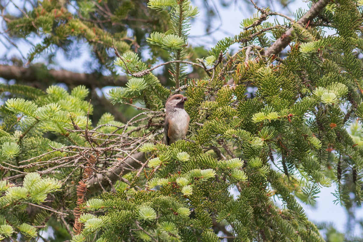
[{"label": "pale blue sky showing through gaps between the branches", "polygon": [[[215,18],[212,22],[211,35],[205,34],[205,20],[203,18],[203,1],[204,0],[196,0],[193,1],[199,9],[200,15],[196,17],[195,20],[192,21],[190,34],[189,34],[189,44],[192,46],[200,46],[203,45],[207,49],[213,47],[217,41],[225,36],[234,36],[240,33],[240,22],[242,19],[246,17],[251,17],[253,13],[255,13],[255,9],[253,9],[253,5],[249,3],[249,1],[232,1],[232,4],[229,5],[228,8],[221,7],[219,0],[208,0],[208,3],[212,6],[215,6],[219,9],[219,16]],[[261,3],[260,3],[261,2]],[[283,12],[288,16],[293,16],[293,12],[295,12],[298,8],[307,9],[307,3],[302,0],[295,0],[293,4],[290,4],[291,9],[283,8],[281,5],[277,4],[275,1],[266,0],[266,1],[256,1],[256,4],[259,7],[270,7],[272,11]],[[281,20],[281,19],[279,19]],[[3,29],[0,27],[0,31],[3,32]],[[37,37],[34,37],[36,42],[40,42],[41,40]],[[5,42],[3,44],[1,41]],[[16,55],[19,56],[19,50],[12,48],[11,51],[8,51],[8,47],[10,45],[6,43],[3,37],[0,37],[0,57],[7,53],[9,56]],[[26,56],[26,53],[30,50],[32,46],[26,42],[22,42],[19,45],[20,51]],[[234,46],[237,48],[238,46]],[[82,53],[78,58],[74,58],[72,61],[69,61],[65,58],[65,56],[60,52],[57,53],[56,58],[59,63],[62,63],[61,66],[49,66],[49,68],[61,69],[64,68],[66,70],[82,72],[85,71],[85,66],[82,64],[85,60],[87,60],[89,55],[89,48],[87,45],[80,45],[79,51]],[[38,59],[41,61],[41,58]],[[1,62],[1,61],[0,61]],[[0,78],[1,79],[1,78]],[[0,80],[1,81],[1,80]],[[317,203],[314,207],[310,205],[306,205],[301,202],[307,217],[314,222],[333,222],[335,227],[344,232],[346,230],[346,222],[347,215],[345,209],[340,205],[335,205],[334,200],[335,197],[332,193],[334,193],[335,187],[332,186],[330,188],[321,188],[321,193],[319,193],[319,198],[317,198]],[[233,190],[232,190],[233,191]],[[356,216],[359,218],[363,218],[363,209],[357,210]],[[356,231],[356,235],[359,235],[360,231]]]}]

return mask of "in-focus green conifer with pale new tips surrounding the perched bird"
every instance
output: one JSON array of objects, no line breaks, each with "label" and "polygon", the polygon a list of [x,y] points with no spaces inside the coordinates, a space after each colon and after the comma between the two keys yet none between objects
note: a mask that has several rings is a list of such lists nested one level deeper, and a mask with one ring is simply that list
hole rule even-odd
[{"label": "in-focus green conifer with pale new tips surrounding the perched bird", "polygon": [[[126,123],[107,112],[92,123],[99,107],[85,86],[2,85],[12,98],[0,108],[0,239],[42,238],[53,223],[73,242],[324,241],[301,203],[333,184],[338,204],[363,199],[363,2],[313,1],[294,19],[251,3],[242,31],[195,61],[190,0],[148,1],[170,16],[170,29],[147,38],[167,62],[150,67],[107,38],[129,76],[109,97],[140,111]],[[187,65],[205,77],[186,79]],[[175,93],[188,97],[191,122],[188,140],[167,146],[163,107]]]}]

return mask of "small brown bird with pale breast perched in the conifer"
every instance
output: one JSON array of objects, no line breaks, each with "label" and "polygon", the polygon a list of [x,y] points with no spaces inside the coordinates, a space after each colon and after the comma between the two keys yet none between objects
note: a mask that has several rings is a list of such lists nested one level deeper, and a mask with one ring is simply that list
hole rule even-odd
[{"label": "small brown bird with pale breast perched in the conifer", "polygon": [[184,110],[184,102],[187,100],[183,95],[175,94],[166,101],[164,134],[167,145],[185,139],[190,120],[189,115]]}]

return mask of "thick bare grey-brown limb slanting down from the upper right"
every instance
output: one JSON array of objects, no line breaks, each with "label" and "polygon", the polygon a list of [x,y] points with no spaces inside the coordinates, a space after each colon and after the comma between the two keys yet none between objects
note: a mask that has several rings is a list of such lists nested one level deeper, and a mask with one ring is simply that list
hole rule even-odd
[{"label": "thick bare grey-brown limb slanting down from the upper right", "polygon": [[[315,3],[309,11],[305,13],[304,16],[301,17],[297,21],[298,24],[306,25],[310,20],[313,20],[318,14],[325,8],[325,6],[329,3],[329,0],[319,0]],[[265,56],[276,55],[280,53],[282,50],[286,48],[286,46],[291,42],[291,36],[294,28],[291,27],[287,30],[280,38],[278,38],[266,51]]]}]

